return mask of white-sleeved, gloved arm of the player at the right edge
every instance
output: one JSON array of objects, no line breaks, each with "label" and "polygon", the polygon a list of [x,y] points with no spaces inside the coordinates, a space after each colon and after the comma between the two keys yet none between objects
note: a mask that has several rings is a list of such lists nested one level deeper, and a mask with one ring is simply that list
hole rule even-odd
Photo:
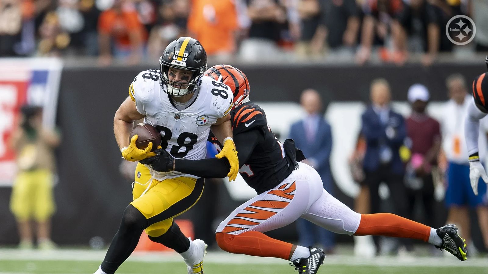
[{"label": "white-sleeved, gloved arm of the player at the right edge", "polygon": [[480,177],[488,183],[488,176],[478,156],[478,136],[480,132],[480,119],[487,114],[476,106],[474,99],[471,99],[468,106],[468,115],[465,120],[464,134],[469,154],[469,181],[474,195],[478,195],[478,181]]}]

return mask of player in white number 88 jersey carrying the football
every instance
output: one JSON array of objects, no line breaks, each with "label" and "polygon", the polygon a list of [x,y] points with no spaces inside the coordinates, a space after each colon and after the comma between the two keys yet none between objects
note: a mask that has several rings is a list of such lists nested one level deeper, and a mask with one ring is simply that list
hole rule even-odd
[{"label": "player in white number 88 jersey carrying the football", "polygon": [[[229,180],[237,176],[239,163],[232,140],[230,111],[233,94],[224,83],[204,76],[207,56],[196,39],[171,42],[160,59],[161,70],[142,71],[129,87],[129,96],[114,117],[114,134],[122,157],[129,161],[155,156],[153,146],[175,158],[198,160],[206,154],[210,129],[224,143],[216,155],[227,163]],[[135,135],[129,141],[134,120],[144,118],[161,133],[161,144],[138,149]],[[229,171],[230,167],[230,171]],[[183,256],[188,274],[203,274],[206,244],[191,241],[173,218],[191,208],[203,191],[203,178],[177,171],[161,172],[138,163],[134,200],[122,216],[119,230],[96,274],[113,274],[134,251],[145,229],[149,238]]]}]

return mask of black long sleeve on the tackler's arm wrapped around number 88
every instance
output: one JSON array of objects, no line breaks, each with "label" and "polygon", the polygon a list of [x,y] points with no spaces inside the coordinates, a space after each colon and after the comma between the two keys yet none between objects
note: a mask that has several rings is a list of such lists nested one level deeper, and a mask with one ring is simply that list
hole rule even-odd
[{"label": "black long sleeve on the tackler's arm wrapped around number 88", "polygon": [[[243,166],[251,156],[254,147],[263,138],[259,130],[251,130],[234,136],[239,166]],[[224,178],[229,173],[230,165],[226,158],[183,160],[175,159],[175,171],[202,178]]]}]

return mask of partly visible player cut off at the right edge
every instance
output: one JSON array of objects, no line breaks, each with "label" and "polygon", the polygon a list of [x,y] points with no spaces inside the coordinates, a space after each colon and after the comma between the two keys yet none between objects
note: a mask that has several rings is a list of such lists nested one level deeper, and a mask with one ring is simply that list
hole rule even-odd
[{"label": "partly visible player cut off at the right edge", "polygon": [[[488,69],[488,56],[485,59]],[[488,184],[488,176],[480,162],[478,155],[478,135],[480,119],[488,114],[488,77],[487,74],[477,76],[473,81],[473,99],[468,105],[468,115],[465,120],[465,138],[469,154],[469,181],[474,195],[478,196],[478,182],[480,177]],[[480,201],[482,197],[479,197]]]}]

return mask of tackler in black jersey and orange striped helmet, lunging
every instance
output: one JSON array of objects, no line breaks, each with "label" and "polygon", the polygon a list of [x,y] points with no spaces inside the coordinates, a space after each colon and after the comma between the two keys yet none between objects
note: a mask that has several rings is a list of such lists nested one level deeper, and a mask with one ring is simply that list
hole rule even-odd
[{"label": "tackler in black jersey and orange striped helmet, lunging", "polygon": [[[322,249],[293,245],[263,234],[302,217],[339,234],[420,239],[466,260],[466,244],[453,225],[434,229],[398,215],[361,215],[349,209],[325,191],[312,167],[299,162],[305,157],[295,149],[293,140],[281,143],[275,137],[264,110],[249,100],[249,82],[244,73],[229,65],[217,65],[205,75],[222,79],[233,89],[231,120],[240,151],[239,172],[258,194],[234,210],[217,228],[217,243],[223,250],[283,258],[291,261],[300,273],[315,274],[325,258]],[[218,143],[215,138],[212,140]],[[228,169],[221,159],[192,161],[176,159],[163,150],[155,152],[157,156],[142,160],[155,170],[220,178]]]}]

